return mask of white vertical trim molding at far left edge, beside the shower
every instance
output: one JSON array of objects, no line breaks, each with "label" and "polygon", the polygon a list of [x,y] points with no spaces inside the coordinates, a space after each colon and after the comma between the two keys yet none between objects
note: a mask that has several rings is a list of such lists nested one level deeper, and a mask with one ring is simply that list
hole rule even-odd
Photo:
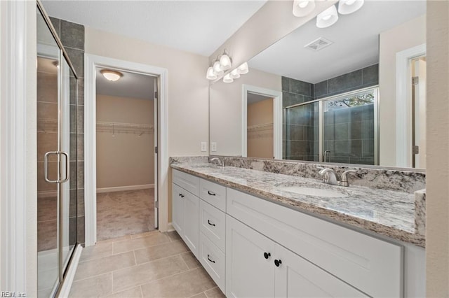
[{"label": "white vertical trim molding at far left edge, beside the shower", "polygon": [[37,295],[36,2],[0,1],[0,289]]}]

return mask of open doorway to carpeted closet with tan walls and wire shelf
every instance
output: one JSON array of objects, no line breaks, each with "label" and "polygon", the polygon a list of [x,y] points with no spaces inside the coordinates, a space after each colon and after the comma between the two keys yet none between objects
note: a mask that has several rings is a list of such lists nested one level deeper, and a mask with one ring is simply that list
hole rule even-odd
[{"label": "open doorway to carpeted closet with tan walls and wire shelf", "polygon": [[158,78],[97,67],[95,85],[97,241],[157,229]]}]

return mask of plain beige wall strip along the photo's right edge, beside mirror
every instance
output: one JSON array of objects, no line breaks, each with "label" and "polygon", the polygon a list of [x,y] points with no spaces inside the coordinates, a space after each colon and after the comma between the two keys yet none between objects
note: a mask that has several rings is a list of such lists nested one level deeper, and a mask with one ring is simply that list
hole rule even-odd
[{"label": "plain beige wall strip along the photo's right edge, beside mirror", "polygon": [[449,2],[427,2],[427,297],[449,297]]}]

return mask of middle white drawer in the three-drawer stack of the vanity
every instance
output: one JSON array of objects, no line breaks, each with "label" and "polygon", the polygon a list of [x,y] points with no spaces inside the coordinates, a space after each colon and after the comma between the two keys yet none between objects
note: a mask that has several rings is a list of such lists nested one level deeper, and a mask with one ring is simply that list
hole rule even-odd
[{"label": "middle white drawer in the three-drawer stack of the vanity", "polygon": [[223,252],[225,252],[225,222],[226,215],[224,212],[202,199],[200,200],[199,230]]}]

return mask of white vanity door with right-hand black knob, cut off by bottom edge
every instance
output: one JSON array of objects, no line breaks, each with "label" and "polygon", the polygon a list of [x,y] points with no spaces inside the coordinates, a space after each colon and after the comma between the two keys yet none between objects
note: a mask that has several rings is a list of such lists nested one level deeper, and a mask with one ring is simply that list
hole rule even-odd
[{"label": "white vanity door with right-hand black knob, cut off by bottom edge", "polygon": [[367,297],[279,244],[273,259],[276,297]]}]

